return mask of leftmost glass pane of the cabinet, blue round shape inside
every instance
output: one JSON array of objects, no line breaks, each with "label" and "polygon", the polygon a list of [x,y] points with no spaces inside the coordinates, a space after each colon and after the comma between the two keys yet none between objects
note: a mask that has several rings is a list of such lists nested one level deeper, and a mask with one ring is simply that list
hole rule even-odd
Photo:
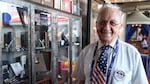
[{"label": "leftmost glass pane of the cabinet, blue round shape inside", "polygon": [[29,84],[29,9],[0,1],[1,84]]}]

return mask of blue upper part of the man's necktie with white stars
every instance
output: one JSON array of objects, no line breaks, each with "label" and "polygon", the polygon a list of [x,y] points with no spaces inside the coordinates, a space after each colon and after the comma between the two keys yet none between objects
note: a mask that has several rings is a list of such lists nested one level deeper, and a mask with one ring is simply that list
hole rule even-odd
[{"label": "blue upper part of the man's necktie with white stars", "polygon": [[103,46],[101,47],[102,52],[100,54],[100,58],[97,60],[97,63],[99,64],[99,67],[103,74],[106,74],[106,69],[107,69],[107,50],[109,49],[110,46]]}]

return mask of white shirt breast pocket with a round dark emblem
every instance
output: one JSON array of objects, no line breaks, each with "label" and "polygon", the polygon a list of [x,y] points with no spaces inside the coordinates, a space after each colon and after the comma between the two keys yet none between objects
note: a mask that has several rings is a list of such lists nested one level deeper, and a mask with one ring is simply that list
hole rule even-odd
[{"label": "white shirt breast pocket with a round dark emblem", "polygon": [[131,84],[131,71],[116,70],[113,73],[112,83],[110,84]]}]

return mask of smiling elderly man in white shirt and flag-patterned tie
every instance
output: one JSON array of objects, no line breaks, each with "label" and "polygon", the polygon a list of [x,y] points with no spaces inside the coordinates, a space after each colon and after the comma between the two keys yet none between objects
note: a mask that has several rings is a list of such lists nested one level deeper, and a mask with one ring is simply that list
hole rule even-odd
[{"label": "smiling elderly man in white shirt and flag-patterned tie", "polygon": [[140,53],[119,40],[122,26],[120,7],[104,4],[96,22],[99,40],[81,51],[73,72],[77,84],[148,84]]}]

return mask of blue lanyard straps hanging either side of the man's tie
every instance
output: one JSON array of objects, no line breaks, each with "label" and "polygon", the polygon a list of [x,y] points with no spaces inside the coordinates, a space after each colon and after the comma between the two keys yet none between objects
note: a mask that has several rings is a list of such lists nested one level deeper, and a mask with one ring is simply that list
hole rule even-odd
[{"label": "blue lanyard straps hanging either side of the man's tie", "polygon": [[[92,81],[92,71],[93,71],[93,66],[94,66],[94,57],[96,55],[96,50],[98,48],[98,42],[95,46],[95,49],[94,49],[94,54],[93,54],[93,60],[92,60],[92,65],[91,65],[91,71],[90,71],[90,77],[91,77],[91,81]],[[112,66],[114,64],[114,60],[115,60],[115,57],[117,55],[117,52],[118,52],[118,48],[119,48],[119,42],[118,40],[116,41],[116,46],[115,46],[115,49],[114,49],[114,53],[112,54],[112,59],[111,59],[111,63],[108,67],[108,72],[107,72],[107,78],[106,78],[106,84],[108,84],[108,80],[109,80],[109,77],[110,77],[110,73],[111,73],[111,70],[112,70]]]}]

